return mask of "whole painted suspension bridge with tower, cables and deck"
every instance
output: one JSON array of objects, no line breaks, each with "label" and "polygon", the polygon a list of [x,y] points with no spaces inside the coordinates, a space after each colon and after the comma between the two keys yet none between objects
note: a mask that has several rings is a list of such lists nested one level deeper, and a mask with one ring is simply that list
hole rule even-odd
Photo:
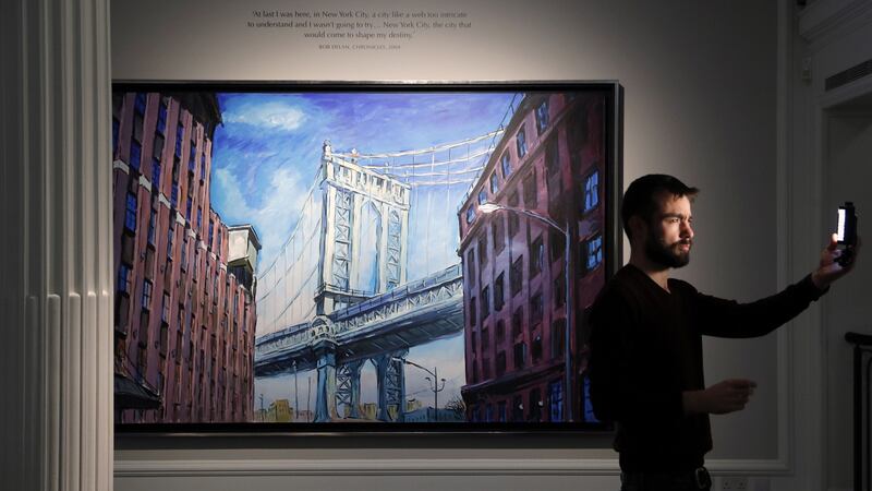
[{"label": "whole painted suspension bridge with tower, cables and deck", "polygon": [[[513,108],[514,100],[505,120]],[[326,141],[296,228],[258,276],[255,376],[316,370],[315,421],[360,418],[361,369],[372,362],[376,418],[402,421],[409,349],[458,335],[464,324],[457,256],[429,271],[436,230],[416,221],[415,211],[443,213],[443,226],[457,233],[452,206],[463,200],[452,199],[452,189],[469,192],[501,134],[500,125],[461,142],[383,154],[335,152]],[[416,193],[441,187],[438,195]],[[422,250],[409,250],[410,233],[424,239]],[[408,280],[410,261],[427,274]]]}]

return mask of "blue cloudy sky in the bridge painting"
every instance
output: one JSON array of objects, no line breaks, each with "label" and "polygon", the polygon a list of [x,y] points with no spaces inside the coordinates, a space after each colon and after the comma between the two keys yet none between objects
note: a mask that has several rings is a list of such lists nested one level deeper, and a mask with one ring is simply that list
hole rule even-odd
[{"label": "blue cloudy sky in the bridge painting", "polygon": [[[492,132],[500,122],[507,122],[512,96],[510,93],[219,94],[223,124],[217,128],[214,139],[211,205],[223,223],[255,227],[263,242],[258,270],[265,271],[299,219],[299,209],[314,183],[324,140],[330,140],[335,152],[356,148],[361,154],[459,142]],[[437,154],[437,160],[445,158]],[[452,171],[479,164],[467,163]],[[417,182],[433,180],[417,179]],[[409,280],[460,262],[456,252],[457,209],[469,185],[414,188],[408,243],[412,252],[407,265]],[[447,379],[445,392],[439,394],[440,406],[459,396],[464,384],[462,339],[455,336],[437,340],[412,348],[408,356],[425,367],[438,367],[440,378]],[[423,376],[423,372],[408,368],[407,393],[432,405],[433,392]],[[317,375],[299,374],[303,409],[307,378],[314,387]],[[267,406],[276,398],[293,402],[291,387],[290,375],[258,379],[255,406],[259,407],[261,394]],[[368,366],[363,370],[362,392],[363,402],[377,399],[374,369]],[[313,408],[314,404],[313,394]]]}]

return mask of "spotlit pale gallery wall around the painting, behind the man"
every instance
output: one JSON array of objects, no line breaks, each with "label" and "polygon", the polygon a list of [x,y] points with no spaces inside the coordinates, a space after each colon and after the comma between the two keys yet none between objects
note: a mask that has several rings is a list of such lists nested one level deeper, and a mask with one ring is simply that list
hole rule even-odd
[{"label": "spotlit pale gallery wall around the painting, behind the man", "polygon": [[[116,0],[111,5],[116,80],[617,80],[626,89],[625,182],[646,172],[669,172],[703,190],[694,208],[693,262],[679,276],[703,291],[742,300],[778,287],[776,2],[448,1],[436,7],[426,1],[164,1],[144,5]],[[393,50],[326,50],[317,45],[331,41],[313,41],[300,29],[250,27],[247,23],[257,20],[253,10],[456,11],[467,13],[472,26],[415,29],[412,39],[399,41],[400,48]],[[810,240],[823,243],[824,237]],[[807,263],[795,279],[811,271],[813,261]],[[779,434],[778,424],[785,415],[778,398],[785,394],[778,380],[777,344],[775,335],[706,340],[710,382],[741,376],[760,384],[746,411],[713,418],[716,444],[710,458],[722,460],[724,469],[787,468],[786,435]],[[298,459],[317,459],[305,465],[340,470],[351,466],[352,474],[359,465],[390,474],[397,470],[399,458],[421,459],[422,469],[428,465],[450,469],[483,458],[497,459],[483,463],[497,468],[499,459],[509,459],[509,470],[520,465],[535,472],[537,465],[554,475],[611,476],[606,488],[615,488],[616,454],[608,438],[500,438],[484,446],[481,441],[479,436],[367,436],[343,444],[318,438],[307,438],[305,443],[270,439],[269,446],[278,448],[250,451],[239,446],[262,446],[257,440],[240,444],[225,439],[221,443],[232,450],[190,450],[190,441],[184,441],[171,445],[171,451],[155,453],[141,448],[148,445],[124,439],[116,454],[124,474],[117,482],[125,489],[145,482],[126,477],[128,472],[142,469],[141,460],[159,466],[154,459],[165,458],[173,466],[210,458],[259,465],[296,460],[291,466],[303,465]],[[434,444],[439,448],[431,448]],[[363,458],[370,460],[358,463]],[[331,459],[339,462],[331,464]],[[181,478],[161,482],[182,481],[184,486],[194,482]],[[441,478],[435,482],[443,482]],[[520,486],[514,478],[496,482]],[[544,482],[557,488],[565,481]],[[143,486],[153,484],[149,479]]]}]

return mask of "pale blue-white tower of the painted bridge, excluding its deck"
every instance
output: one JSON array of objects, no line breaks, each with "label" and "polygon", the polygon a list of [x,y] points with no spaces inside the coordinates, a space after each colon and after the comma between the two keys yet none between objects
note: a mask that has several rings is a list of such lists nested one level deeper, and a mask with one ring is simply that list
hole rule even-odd
[{"label": "pale blue-white tower of the painted bridge, excluding its deck", "polygon": [[[317,319],[405,283],[410,187],[358,165],[356,155],[356,151],[335,154],[330,142],[324,142],[319,286],[314,299]],[[316,422],[338,417],[337,400],[350,405],[351,417],[358,412],[361,363],[337,367],[335,347],[320,339],[315,349]],[[385,394],[385,406],[388,398],[397,398],[393,387],[398,381],[402,383],[395,366],[392,361],[378,364],[379,395]],[[387,418],[383,409],[379,419]]]}]

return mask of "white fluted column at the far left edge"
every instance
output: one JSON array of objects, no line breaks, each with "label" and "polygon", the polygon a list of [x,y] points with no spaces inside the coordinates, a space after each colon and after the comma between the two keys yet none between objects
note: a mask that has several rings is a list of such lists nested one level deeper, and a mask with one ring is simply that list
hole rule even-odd
[{"label": "white fluted column at the far left edge", "polygon": [[111,490],[109,2],[0,12],[0,487]]}]

